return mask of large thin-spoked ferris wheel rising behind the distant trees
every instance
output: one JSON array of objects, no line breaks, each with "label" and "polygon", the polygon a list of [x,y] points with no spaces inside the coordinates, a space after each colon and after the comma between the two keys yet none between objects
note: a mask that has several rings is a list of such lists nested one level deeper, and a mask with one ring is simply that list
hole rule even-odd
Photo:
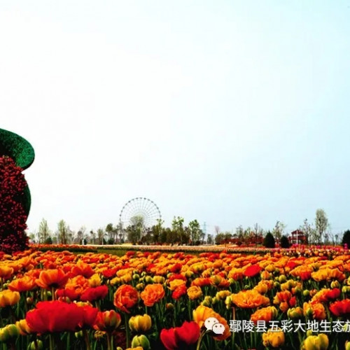
[{"label": "large thin-spoked ferris wheel rising behind the distant trees", "polygon": [[126,202],[119,215],[122,228],[137,224],[141,224],[143,228],[151,228],[161,219],[157,204],[146,197],[136,197]]}]

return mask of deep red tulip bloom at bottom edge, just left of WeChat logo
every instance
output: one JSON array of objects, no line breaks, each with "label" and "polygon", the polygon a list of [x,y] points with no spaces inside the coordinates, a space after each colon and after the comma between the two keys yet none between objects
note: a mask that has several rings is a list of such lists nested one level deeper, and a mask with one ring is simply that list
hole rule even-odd
[{"label": "deep red tulip bloom at bottom edge, just left of WeChat logo", "polygon": [[200,337],[200,326],[196,322],[185,321],[181,327],[163,329],[160,339],[167,350],[186,349]]}]

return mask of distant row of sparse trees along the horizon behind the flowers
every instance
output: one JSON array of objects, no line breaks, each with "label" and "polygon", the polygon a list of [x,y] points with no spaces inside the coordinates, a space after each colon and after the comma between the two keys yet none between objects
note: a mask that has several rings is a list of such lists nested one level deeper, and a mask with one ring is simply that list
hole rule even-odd
[{"label": "distant row of sparse trees along the horizon behind the flowers", "polygon": [[[344,244],[344,239],[339,234],[333,235],[330,231],[328,218],[323,209],[317,209],[314,223],[304,219],[297,230],[303,232],[305,244]],[[347,234],[346,234],[347,235]],[[269,245],[272,239],[281,246],[288,246],[288,235],[286,225],[276,221],[272,230],[263,230],[258,223],[253,228],[243,228],[241,225],[235,232],[221,232],[215,226],[215,235],[206,235],[197,220],[190,221],[184,225],[184,219],[180,216],[174,217],[170,228],[164,227],[164,221],[158,220],[151,228],[145,228],[144,218],[134,216],[130,225],[123,228],[122,225],[107,224],[104,228],[87,231],[82,226],[77,232],[69,228],[69,225],[61,220],[57,223],[57,230],[52,232],[48,222],[43,218],[38,232],[29,234],[31,241],[43,244],[179,244],[179,245],[200,245],[200,244],[255,244]],[[346,236],[347,237],[347,236]],[[349,239],[350,246],[350,239]]]}]

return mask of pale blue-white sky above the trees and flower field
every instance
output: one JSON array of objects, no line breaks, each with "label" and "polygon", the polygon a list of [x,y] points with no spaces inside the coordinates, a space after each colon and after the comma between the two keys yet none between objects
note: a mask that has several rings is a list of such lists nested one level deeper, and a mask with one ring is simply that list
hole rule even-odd
[{"label": "pale blue-white sky above the trees and flower field", "polygon": [[316,209],[350,229],[348,1],[1,1],[0,127],[25,137],[27,224],[234,230]]}]

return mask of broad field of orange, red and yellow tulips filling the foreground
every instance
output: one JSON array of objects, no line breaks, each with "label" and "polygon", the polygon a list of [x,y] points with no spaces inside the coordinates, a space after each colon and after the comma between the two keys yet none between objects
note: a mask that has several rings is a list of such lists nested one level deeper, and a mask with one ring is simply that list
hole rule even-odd
[{"label": "broad field of orange, red and yellow tulips filling the foreground", "polygon": [[31,248],[2,253],[0,277],[2,349],[350,349],[342,248]]}]

